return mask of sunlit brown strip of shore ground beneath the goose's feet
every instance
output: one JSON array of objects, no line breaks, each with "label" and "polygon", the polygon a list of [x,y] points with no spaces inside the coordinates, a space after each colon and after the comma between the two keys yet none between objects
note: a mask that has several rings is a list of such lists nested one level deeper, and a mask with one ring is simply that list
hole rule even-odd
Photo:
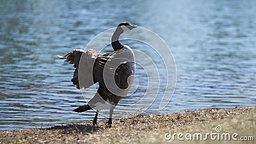
[{"label": "sunlit brown strip of shore ground beneath the goose's feet", "polygon": [[113,120],[111,128],[106,120],[98,124],[0,131],[0,143],[256,143],[256,108],[137,115]]}]

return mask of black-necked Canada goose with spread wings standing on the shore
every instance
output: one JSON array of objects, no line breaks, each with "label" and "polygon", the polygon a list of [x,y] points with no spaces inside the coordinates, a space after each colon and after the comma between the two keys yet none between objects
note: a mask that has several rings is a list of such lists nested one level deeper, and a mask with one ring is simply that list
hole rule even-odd
[{"label": "black-necked Canada goose with spread wings standing on the shore", "polygon": [[96,110],[93,126],[97,125],[97,116],[102,109],[109,109],[107,126],[112,126],[113,110],[131,87],[135,74],[134,52],[128,45],[121,44],[118,39],[122,33],[127,33],[136,27],[128,22],[118,24],[111,38],[113,52],[101,54],[93,49],[87,51],[75,49],[60,57],[74,64],[76,70],[71,81],[77,89],[89,88],[99,83],[99,89],[93,98],[87,104],[73,110],[77,113]]}]

